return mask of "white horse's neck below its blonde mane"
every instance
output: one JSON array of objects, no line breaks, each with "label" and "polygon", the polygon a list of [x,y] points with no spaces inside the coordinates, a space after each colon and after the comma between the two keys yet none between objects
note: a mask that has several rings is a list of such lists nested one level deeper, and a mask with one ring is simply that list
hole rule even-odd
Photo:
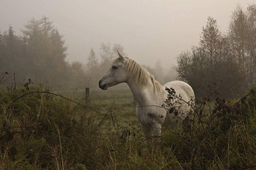
[{"label": "white horse's neck below its blonde mane", "polygon": [[147,84],[144,86],[139,85],[137,81],[129,79],[126,83],[129,85],[138,105],[143,106],[152,104],[155,93],[154,85],[150,78],[148,78]]}]

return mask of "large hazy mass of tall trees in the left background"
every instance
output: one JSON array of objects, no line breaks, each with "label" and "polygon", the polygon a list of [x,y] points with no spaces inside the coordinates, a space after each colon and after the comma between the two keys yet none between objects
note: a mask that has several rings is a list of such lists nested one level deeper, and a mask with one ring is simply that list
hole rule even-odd
[{"label": "large hazy mass of tall trees in the left background", "polygon": [[[15,35],[11,26],[8,31],[0,33],[0,72],[16,73],[20,87],[28,78],[37,83],[45,81],[56,88],[72,88],[81,84],[78,77],[83,80],[84,71],[81,67],[73,71],[65,61],[67,46],[52,21],[45,16],[40,20],[32,18],[22,33],[23,36]],[[9,79],[4,84],[11,86],[13,80]]]}]

